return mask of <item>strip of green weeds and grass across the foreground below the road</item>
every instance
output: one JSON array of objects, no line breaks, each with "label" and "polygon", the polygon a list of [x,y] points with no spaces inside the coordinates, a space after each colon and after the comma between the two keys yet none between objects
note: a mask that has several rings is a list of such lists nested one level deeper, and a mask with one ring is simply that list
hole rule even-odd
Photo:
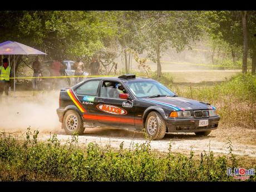
[{"label": "strip of green weeds and grass across the foreground below the road", "polygon": [[[11,134],[0,135],[1,181],[233,181],[227,168],[256,168],[255,164],[240,164],[232,154],[214,156],[204,151],[200,156],[157,154],[150,141],[131,143],[129,149],[102,148],[89,143],[78,146],[78,136],[61,145],[56,135],[47,142],[37,141],[38,131],[30,128],[26,139],[18,140]],[[256,176],[251,176],[255,181]]]}]

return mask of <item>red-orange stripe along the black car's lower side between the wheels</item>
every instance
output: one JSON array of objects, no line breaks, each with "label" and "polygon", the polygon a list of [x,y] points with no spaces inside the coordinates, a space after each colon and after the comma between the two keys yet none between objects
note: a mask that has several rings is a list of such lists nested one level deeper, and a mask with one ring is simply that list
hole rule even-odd
[{"label": "red-orange stripe along the black car's lower side between the wheels", "polygon": [[142,119],[136,119],[134,118],[124,118],[124,117],[110,117],[110,116],[103,116],[103,115],[88,115],[83,114],[83,118],[87,120],[98,120],[98,121],[106,121],[106,122],[123,122],[126,124],[142,124]]}]

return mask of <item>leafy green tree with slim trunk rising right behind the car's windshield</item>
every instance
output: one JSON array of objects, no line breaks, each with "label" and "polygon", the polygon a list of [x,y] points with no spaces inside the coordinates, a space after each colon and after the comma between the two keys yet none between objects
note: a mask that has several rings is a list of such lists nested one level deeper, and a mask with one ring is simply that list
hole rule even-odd
[{"label": "leafy green tree with slim trunk rising right behind the car's windshield", "polygon": [[157,77],[161,76],[161,53],[169,47],[177,52],[190,47],[203,33],[203,19],[199,11],[143,11],[140,19],[140,36],[149,58],[157,63]]}]

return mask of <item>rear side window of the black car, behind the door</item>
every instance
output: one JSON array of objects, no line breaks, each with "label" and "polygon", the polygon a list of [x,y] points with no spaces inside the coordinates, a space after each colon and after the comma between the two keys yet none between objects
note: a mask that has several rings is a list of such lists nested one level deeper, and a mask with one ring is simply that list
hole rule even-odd
[{"label": "rear side window of the black car, behind the door", "polygon": [[76,93],[80,95],[96,96],[99,83],[100,83],[100,80],[87,81],[76,89]]}]

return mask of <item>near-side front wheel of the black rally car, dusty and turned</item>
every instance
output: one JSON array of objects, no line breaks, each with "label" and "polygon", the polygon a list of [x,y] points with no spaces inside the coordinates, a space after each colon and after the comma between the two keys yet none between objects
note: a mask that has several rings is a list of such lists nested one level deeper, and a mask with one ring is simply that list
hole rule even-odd
[{"label": "near-side front wheel of the black rally car, dusty and turned", "polygon": [[156,111],[152,111],[147,115],[145,131],[149,139],[163,139],[166,132],[166,124],[163,117]]}]

